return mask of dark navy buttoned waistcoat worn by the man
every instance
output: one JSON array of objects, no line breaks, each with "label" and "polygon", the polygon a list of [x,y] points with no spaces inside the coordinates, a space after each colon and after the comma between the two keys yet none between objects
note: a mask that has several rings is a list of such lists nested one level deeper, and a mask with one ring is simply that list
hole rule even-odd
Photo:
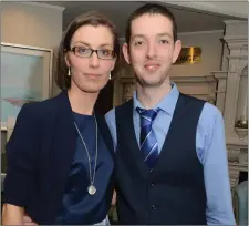
[{"label": "dark navy buttoned waistcoat worn by the man", "polygon": [[152,172],[143,161],[135,137],[133,101],[116,107],[120,224],[206,224],[204,170],[196,155],[196,130],[204,103],[179,95],[168,134]]}]

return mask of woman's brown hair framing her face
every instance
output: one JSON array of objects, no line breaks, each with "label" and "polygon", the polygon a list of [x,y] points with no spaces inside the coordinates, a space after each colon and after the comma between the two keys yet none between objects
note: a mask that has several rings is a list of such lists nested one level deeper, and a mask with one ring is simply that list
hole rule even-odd
[{"label": "woman's brown hair framing her face", "polygon": [[82,25],[105,25],[113,33],[114,52],[116,58],[120,56],[120,42],[115,25],[101,12],[90,11],[75,18],[65,30],[60,43],[56,61],[55,82],[56,85],[65,91],[71,86],[71,78],[68,75],[68,66],[65,63],[65,53],[71,48],[71,40],[75,31]]}]

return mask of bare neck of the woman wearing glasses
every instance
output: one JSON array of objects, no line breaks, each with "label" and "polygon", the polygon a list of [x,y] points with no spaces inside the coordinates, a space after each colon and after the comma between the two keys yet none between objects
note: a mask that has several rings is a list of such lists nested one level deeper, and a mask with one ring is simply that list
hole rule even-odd
[{"label": "bare neck of the woman wearing glasses", "polygon": [[98,96],[97,93],[86,93],[79,88],[72,86],[69,91],[69,100],[73,112],[92,115]]}]

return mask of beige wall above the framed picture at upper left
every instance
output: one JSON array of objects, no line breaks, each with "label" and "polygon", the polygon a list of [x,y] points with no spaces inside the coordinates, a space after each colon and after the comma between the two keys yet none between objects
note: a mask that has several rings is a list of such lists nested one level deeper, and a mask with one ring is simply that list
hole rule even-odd
[{"label": "beige wall above the framed picture at upper left", "polygon": [[[52,49],[55,54],[62,37],[62,22],[63,8],[1,2],[1,42]],[[54,74],[55,66],[53,69]],[[53,94],[58,92],[53,84]]]}]

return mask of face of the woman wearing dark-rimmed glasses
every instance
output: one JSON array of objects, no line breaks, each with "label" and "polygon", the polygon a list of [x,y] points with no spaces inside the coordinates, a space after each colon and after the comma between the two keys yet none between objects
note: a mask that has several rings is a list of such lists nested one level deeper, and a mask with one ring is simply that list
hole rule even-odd
[{"label": "face of the woman wearing dark-rimmed glasses", "polygon": [[[114,37],[111,30],[105,25],[82,25],[72,37],[71,49],[73,51],[65,54],[66,65],[71,69],[71,89],[100,92],[116,62],[116,58],[112,58]],[[98,52],[90,56],[91,49]]]}]

